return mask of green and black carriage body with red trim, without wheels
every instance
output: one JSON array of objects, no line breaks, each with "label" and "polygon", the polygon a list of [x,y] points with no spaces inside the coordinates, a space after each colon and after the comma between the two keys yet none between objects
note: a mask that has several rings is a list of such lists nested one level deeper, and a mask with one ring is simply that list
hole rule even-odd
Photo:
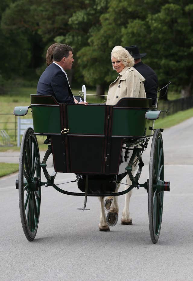
[{"label": "green and black carriage body with red trim, without wheels", "polygon": [[[145,117],[153,110],[151,99],[80,106],[31,95],[31,110],[34,134],[51,137],[56,172],[121,174],[126,172],[123,144],[152,136],[153,120]],[[64,128],[69,132],[61,134]]]}]

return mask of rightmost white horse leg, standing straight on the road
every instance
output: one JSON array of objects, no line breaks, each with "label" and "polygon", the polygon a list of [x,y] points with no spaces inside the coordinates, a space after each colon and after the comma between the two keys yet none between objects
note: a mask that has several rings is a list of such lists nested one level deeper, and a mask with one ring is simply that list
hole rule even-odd
[{"label": "rightmost white horse leg, standing straight on the road", "polygon": [[[128,175],[126,177],[126,184],[131,185],[131,180]],[[125,186],[125,189],[127,189],[127,188],[128,188],[128,186]],[[130,202],[132,192],[133,192],[133,190],[131,190],[125,194],[125,207],[124,207],[123,213],[122,213],[121,224],[132,224],[132,218],[130,217],[130,213],[129,213],[129,202]]]}]

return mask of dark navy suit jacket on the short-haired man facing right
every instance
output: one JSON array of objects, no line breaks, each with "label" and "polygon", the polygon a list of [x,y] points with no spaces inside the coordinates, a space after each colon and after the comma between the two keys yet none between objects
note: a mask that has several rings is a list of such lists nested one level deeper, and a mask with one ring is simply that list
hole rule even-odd
[{"label": "dark navy suit jacket on the short-haired man facing right", "polygon": [[40,76],[37,94],[54,96],[59,103],[74,103],[66,75],[55,63],[50,64]]}]

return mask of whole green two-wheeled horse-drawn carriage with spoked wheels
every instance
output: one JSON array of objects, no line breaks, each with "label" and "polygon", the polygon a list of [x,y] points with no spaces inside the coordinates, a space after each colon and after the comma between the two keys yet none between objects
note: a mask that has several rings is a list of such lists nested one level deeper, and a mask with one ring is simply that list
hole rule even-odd
[{"label": "whole green two-wheeled horse-drawn carriage with spoked wheels", "polygon": [[[27,239],[32,241],[36,236],[44,186],[52,186],[67,195],[84,196],[83,210],[87,196],[118,196],[134,187],[144,187],[148,192],[150,237],[156,243],[162,222],[163,193],[170,190],[170,183],[164,181],[163,129],[153,129],[161,111],[152,106],[151,99],[122,98],[114,106],[96,103],[81,106],[58,103],[52,96],[31,95],[31,106],[15,107],[14,115],[24,116],[29,108],[33,129],[27,128],[24,132],[19,179],[16,180],[21,222]],[[80,118],[84,125],[78,122]],[[48,150],[42,162],[36,135],[47,136],[44,143],[48,144]],[[140,184],[144,165],[142,153],[152,136],[149,178]],[[51,153],[55,173],[49,175],[46,161]],[[41,168],[46,182],[41,181]],[[76,174],[82,192],[59,188],[54,184],[57,172]],[[131,184],[124,191],[116,192],[126,175]],[[111,220],[107,215],[107,223],[114,225],[115,221]]]}]

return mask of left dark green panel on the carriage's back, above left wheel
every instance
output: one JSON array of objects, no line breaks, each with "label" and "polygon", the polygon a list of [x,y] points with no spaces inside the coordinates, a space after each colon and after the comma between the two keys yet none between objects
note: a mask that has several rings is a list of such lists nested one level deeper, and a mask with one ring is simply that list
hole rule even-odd
[{"label": "left dark green panel on the carriage's back, above left wheel", "polygon": [[59,106],[33,106],[33,128],[35,133],[60,134]]}]

